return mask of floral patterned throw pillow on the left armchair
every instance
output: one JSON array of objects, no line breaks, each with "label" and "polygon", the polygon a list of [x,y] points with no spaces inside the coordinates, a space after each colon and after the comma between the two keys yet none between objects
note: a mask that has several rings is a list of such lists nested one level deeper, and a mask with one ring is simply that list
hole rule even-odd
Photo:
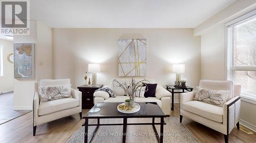
[{"label": "floral patterned throw pillow on the left armchair", "polygon": [[39,87],[39,95],[42,102],[71,97],[71,84],[55,87]]}]

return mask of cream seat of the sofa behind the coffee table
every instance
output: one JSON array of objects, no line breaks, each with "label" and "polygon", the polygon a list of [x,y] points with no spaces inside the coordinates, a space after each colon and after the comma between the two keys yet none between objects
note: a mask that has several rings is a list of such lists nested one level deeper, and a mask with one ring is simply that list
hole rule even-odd
[{"label": "cream seat of the sofa behind the coffee table", "polygon": [[[129,99],[129,96],[116,96],[110,97],[103,102],[124,102],[125,99]],[[135,97],[135,102],[157,102],[159,107],[162,107],[162,101],[157,99],[156,97],[148,97],[148,98],[140,98],[140,97]]]}]

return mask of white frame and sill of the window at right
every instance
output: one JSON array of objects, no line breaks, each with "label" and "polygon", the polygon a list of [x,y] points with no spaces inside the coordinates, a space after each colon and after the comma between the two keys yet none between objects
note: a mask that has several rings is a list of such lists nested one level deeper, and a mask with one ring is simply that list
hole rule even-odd
[{"label": "white frame and sill of the window at right", "polygon": [[[234,46],[233,46],[233,26],[256,17],[256,10],[248,12],[236,19],[225,23],[225,60],[226,60],[226,79],[234,81],[234,71],[246,70],[254,71],[256,66],[234,66]],[[242,91],[241,99],[256,104],[256,95]]]}]

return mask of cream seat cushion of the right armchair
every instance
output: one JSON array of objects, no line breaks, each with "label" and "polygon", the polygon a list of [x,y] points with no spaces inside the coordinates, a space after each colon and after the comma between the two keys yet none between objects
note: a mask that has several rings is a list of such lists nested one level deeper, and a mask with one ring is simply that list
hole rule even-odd
[{"label": "cream seat cushion of the right armchair", "polygon": [[182,104],[182,108],[212,121],[223,122],[223,107],[200,101],[188,101]]}]

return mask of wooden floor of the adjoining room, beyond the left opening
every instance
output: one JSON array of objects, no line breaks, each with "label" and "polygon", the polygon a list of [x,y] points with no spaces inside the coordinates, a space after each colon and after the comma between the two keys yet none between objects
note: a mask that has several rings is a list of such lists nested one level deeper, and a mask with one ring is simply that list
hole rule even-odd
[{"label": "wooden floor of the adjoining room, beyond the left opening", "polygon": [[28,112],[30,110],[13,110],[13,92],[0,95],[0,125]]}]

